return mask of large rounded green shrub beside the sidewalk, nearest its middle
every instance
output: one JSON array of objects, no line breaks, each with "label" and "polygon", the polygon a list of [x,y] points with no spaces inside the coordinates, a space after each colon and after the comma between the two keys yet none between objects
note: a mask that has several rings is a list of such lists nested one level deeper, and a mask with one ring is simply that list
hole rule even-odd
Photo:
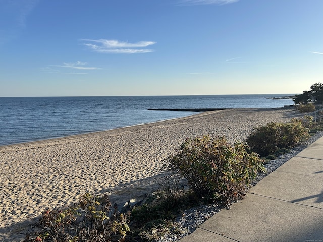
[{"label": "large rounded green shrub beside the sidewalk, nearest its middle", "polygon": [[246,185],[264,170],[258,154],[248,153],[246,144],[230,145],[224,137],[187,139],[169,166],[184,176],[198,197],[239,198]]}]

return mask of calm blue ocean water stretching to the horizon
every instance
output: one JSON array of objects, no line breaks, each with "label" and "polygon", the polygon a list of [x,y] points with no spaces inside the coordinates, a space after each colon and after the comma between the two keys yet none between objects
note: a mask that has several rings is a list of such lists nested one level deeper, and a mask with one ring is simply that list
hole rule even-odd
[{"label": "calm blue ocean water stretching to the horizon", "polygon": [[291,94],[0,98],[0,145],[110,130],[196,114],[173,108],[276,108]]}]

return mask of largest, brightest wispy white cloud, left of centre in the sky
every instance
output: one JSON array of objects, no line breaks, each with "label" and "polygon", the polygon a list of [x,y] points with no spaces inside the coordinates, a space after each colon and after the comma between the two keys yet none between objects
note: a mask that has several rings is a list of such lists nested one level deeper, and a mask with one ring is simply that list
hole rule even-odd
[{"label": "largest, brightest wispy white cloud, left of centre in the sky", "polygon": [[122,42],[118,40],[109,40],[109,39],[81,39],[84,42],[90,43],[82,43],[89,47],[94,52],[99,53],[125,53],[125,54],[134,54],[134,53],[149,53],[153,52],[153,49],[144,49],[149,45],[153,45],[156,42],[152,41],[140,41],[137,43],[128,43]]}]

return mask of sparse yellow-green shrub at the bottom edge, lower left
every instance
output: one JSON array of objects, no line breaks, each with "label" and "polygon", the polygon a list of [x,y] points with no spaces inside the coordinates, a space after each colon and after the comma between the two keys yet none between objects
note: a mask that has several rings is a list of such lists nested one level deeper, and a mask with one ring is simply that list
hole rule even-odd
[{"label": "sparse yellow-green shrub at the bottom edge, lower left", "polygon": [[121,241],[129,232],[125,214],[109,216],[109,198],[84,194],[64,210],[46,210],[25,242]]}]

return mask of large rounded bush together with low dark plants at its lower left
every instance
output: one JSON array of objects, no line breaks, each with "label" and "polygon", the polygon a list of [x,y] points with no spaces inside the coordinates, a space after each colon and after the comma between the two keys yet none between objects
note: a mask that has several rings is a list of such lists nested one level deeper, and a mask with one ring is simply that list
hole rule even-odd
[{"label": "large rounded bush together with low dark plants at its lower left", "polygon": [[[259,156],[247,151],[246,144],[230,145],[224,137],[186,139],[168,159],[170,176],[159,183],[161,191],[132,210],[130,226],[144,240],[153,240],[168,230],[176,233],[173,221],[188,208],[241,198],[257,172],[264,171]],[[186,178],[189,188],[185,189],[178,174]]]}]

